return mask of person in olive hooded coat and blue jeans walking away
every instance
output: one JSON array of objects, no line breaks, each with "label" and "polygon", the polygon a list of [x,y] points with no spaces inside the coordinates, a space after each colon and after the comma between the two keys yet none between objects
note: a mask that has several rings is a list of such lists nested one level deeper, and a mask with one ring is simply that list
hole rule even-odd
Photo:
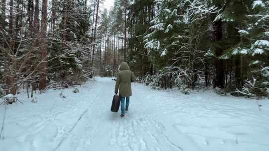
[{"label": "person in olive hooded coat and blue jeans walking away", "polygon": [[[125,112],[128,111],[130,96],[132,96],[132,87],[131,82],[135,81],[134,73],[130,71],[127,62],[123,62],[119,68],[119,73],[117,75],[116,85],[115,85],[115,94],[118,94],[121,100],[121,118],[124,119]],[[126,105],[125,105],[126,99]]]}]

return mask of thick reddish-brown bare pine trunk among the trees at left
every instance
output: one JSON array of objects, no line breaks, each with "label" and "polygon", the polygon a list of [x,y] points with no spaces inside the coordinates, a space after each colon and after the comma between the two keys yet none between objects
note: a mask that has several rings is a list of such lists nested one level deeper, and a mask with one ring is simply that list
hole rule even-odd
[{"label": "thick reddish-brown bare pine trunk among the trees at left", "polygon": [[48,11],[48,0],[42,1],[42,17],[41,17],[41,78],[39,81],[39,90],[43,90],[46,87],[47,79],[47,40],[46,40],[46,30],[47,30],[47,11]]}]

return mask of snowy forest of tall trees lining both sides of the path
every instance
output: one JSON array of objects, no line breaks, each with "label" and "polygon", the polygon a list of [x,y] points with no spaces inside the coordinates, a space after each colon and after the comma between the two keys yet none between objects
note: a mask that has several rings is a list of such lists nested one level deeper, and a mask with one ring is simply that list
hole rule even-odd
[{"label": "snowy forest of tall trees lining both sides of the path", "polygon": [[267,0],[1,0],[0,96],[115,76],[154,89],[269,93]]}]

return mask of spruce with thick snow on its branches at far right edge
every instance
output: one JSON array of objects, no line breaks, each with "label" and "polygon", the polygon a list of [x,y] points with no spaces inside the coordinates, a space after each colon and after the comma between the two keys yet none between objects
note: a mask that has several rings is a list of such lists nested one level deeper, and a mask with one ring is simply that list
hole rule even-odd
[{"label": "spruce with thick snow on its branches at far right edge", "polygon": [[254,0],[248,5],[244,26],[239,30],[240,44],[232,55],[248,58],[244,85],[237,92],[247,96],[268,95],[269,88],[269,2]]}]

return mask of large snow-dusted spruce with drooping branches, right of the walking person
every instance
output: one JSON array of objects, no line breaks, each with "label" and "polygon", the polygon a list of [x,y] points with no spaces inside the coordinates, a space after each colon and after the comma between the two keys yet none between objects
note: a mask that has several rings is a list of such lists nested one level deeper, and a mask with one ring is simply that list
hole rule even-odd
[{"label": "large snow-dusted spruce with drooping branches, right of the walking person", "polygon": [[208,14],[216,11],[203,0],[158,0],[151,30],[144,36],[145,48],[154,54],[164,73],[175,74],[178,84],[195,86],[201,75],[207,41]]}]

